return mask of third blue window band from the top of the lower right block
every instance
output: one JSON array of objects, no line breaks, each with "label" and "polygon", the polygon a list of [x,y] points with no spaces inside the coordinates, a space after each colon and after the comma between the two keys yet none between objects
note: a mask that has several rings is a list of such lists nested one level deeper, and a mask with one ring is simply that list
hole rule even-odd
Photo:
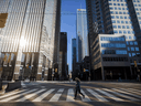
[{"label": "third blue window band from the top of the lower right block", "polygon": [[127,50],[102,50],[102,54],[127,54]]}]

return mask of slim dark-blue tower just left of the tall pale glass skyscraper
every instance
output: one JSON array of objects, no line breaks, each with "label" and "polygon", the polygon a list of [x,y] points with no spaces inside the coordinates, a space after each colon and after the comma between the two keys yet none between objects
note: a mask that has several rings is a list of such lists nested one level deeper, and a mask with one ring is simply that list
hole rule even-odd
[{"label": "slim dark-blue tower just left of the tall pale glass skyscraper", "polygon": [[74,72],[75,71],[75,64],[76,64],[76,39],[72,39],[72,70],[73,70],[72,72],[73,73],[75,73]]}]

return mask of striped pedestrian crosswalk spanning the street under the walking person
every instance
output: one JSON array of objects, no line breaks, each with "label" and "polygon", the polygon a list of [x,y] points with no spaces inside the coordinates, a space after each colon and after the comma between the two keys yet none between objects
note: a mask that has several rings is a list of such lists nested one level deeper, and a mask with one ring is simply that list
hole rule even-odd
[{"label": "striped pedestrian crosswalk spanning the street under the walking person", "polygon": [[0,96],[6,102],[141,102],[141,91],[134,88],[82,88],[85,98],[74,88],[33,88],[19,89]]}]

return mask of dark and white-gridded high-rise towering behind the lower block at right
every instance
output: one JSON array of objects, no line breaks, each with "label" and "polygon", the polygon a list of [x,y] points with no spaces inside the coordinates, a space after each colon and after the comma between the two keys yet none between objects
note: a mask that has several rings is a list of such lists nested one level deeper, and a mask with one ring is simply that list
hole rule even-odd
[{"label": "dark and white-gridded high-rise towering behind the lower block at right", "polygon": [[[88,41],[90,50],[91,70],[97,55],[96,42],[98,34],[126,35],[131,75],[137,75],[141,68],[140,42],[140,0],[86,0]],[[134,68],[137,63],[137,68]]]}]

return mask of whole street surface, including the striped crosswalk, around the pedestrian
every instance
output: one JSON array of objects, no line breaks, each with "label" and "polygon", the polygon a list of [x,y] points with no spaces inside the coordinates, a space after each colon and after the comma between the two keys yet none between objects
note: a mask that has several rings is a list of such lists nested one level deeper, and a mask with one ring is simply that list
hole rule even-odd
[{"label": "whole street surface, including the striped crosswalk, around the pedestrian", "polygon": [[141,106],[141,84],[82,82],[83,98],[74,99],[75,82],[22,82],[22,87],[0,95],[0,106]]}]

